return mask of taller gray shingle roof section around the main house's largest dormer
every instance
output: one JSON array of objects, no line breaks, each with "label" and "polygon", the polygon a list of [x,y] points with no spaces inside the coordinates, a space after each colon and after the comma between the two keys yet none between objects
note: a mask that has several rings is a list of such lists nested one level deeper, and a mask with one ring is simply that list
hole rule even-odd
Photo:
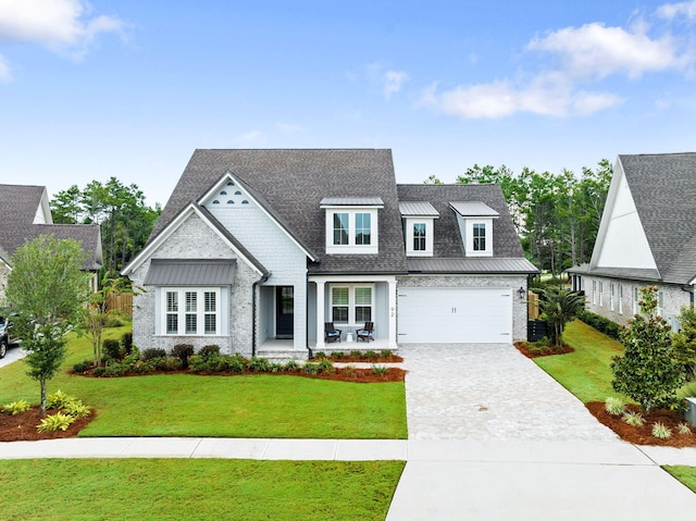
[{"label": "taller gray shingle roof section around the main house's largest dormer", "polygon": [[[403,273],[406,257],[390,150],[196,150],[151,236],[152,240],[190,201],[226,172],[239,178],[319,262],[310,273]],[[325,255],[325,197],[375,198],[380,255]]]}]

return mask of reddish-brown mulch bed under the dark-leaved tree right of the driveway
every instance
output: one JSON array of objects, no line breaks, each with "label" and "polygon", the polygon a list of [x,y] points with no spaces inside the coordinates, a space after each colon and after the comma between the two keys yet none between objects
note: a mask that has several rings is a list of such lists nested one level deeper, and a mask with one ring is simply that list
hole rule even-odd
[{"label": "reddish-brown mulch bed under the dark-leaved tree right of the driveway", "polygon": [[[587,410],[597,419],[597,421],[611,429],[617,435],[629,443],[635,445],[657,445],[661,447],[696,447],[696,434],[680,434],[676,430],[678,425],[684,422],[684,417],[675,411],[666,409],[652,410],[649,414],[643,413],[645,424],[642,427],[635,427],[624,422],[621,417],[609,414],[605,410],[604,401],[591,401],[585,404]],[[641,408],[634,405],[627,405],[626,411],[641,412]],[[660,439],[652,436],[652,424],[660,422],[672,431],[672,435],[667,439]],[[694,427],[692,427],[694,431]]]}]

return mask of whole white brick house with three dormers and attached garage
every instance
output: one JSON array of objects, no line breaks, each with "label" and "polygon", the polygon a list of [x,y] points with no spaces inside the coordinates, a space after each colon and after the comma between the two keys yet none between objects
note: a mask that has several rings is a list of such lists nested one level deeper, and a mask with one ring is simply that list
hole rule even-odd
[{"label": "whole white brick house with three dormers and attached garage", "polygon": [[497,185],[397,186],[389,150],[197,150],[123,273],[141,349],[304,359],[525,339],[536,269]]}]

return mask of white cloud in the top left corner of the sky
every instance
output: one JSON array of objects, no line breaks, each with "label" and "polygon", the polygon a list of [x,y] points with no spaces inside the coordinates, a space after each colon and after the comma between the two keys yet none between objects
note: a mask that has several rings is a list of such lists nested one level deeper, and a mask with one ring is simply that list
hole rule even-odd
[{"label": "white cloud in the top left corner of the sky", "polygon": [[104,33],[123,34],[116,16],[89,16],[85,0],[0,0],[0,39],[38,44],[79,58]]}]

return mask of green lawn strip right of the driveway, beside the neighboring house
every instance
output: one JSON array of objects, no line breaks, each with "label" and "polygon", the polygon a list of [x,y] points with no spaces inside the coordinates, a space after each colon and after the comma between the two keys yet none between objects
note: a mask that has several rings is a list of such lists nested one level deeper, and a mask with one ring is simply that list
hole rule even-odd
[{"label": "green lawn strip right of the driveway, beside the neighboring house", "polygon": [[611,359],[623,353],[619,342],[579,320],[568,324],[563,340],[575,351],[535,358],[537,365],[585,404],[622,396],[611,388]]}]

